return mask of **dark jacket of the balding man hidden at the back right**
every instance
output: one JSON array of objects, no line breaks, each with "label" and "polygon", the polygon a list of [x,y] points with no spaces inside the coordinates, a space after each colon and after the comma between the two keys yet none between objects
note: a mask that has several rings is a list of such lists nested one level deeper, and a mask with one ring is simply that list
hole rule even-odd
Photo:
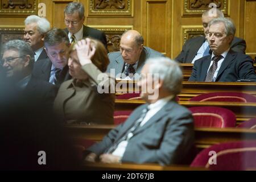
[{"label": "dark jacket of the balding man hidden at the back right", "polygon": [[[197,54],[197,51],[202,46],[202,44],[205,42],[204,36],[196,36],[195,38],[187,40],[185,42],[182,51],[180,54],[175,58],[176,61],[179,63],[192,63],[192,60]],[[233,51],[236,52],[242,52],[245,53],[246,49],[246,43],[245,40],[234,37],[230,48],[233,49]]]}]

